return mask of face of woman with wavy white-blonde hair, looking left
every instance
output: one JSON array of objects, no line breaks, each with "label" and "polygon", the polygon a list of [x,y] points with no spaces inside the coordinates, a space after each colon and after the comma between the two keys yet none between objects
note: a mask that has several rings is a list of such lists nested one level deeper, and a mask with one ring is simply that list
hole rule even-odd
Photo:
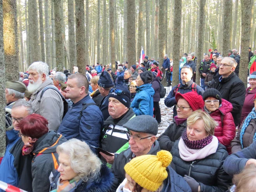
[{"label": "face of woman with wavy white-blonde hair, looking left", "polygon": [[71,180],[78,173],[75,173],[74,170],[70,166],[69,156],[65,153],[59,154],[59,168],[58,171],[61,173],[62,180]]}]

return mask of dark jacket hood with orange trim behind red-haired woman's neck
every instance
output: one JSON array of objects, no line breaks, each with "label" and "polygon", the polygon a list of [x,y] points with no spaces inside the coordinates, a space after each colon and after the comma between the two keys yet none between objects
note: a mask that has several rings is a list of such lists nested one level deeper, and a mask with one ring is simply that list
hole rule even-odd
[{"label": "dark jacket hood with orange trim behind red-haired woman's neck", "polygon": [[38,154],[42,150],[44,150],[41,152],[42,154],[56,152],[56,148],[66,141],[63,135],[57,134],[55,131],[50,131],[35,142],[33,153]]}]

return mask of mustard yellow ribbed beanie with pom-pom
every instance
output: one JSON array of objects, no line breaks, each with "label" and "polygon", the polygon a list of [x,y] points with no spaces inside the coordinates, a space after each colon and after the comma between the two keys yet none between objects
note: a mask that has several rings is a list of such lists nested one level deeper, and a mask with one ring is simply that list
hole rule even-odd
[{"label": "mustard yellow ribbed beanie with pom-pom", "polygon": [[144,189],[156,191],[167,178],[166,167],[173,159],[170,152],[161,150],[155,155],[143,155],[125,165],[125,171]]}]

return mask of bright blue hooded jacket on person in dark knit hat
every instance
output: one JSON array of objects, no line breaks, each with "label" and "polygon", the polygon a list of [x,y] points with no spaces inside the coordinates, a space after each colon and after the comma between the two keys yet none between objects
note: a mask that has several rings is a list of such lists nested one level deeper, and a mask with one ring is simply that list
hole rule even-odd
[{"label": "bright blue hooded jacket on person in dark knit hat", "polygon": [[133,101],[131,102],[131,108],[137,115],[151,115],[153,116],[153,96],[155,94],[152,84],[144,84],[139,86],[136,91]]}]

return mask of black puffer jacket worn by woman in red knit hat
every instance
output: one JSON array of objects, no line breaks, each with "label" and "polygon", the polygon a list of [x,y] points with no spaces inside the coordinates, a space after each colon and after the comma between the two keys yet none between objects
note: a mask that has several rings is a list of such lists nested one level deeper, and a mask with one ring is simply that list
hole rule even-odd
[{"label": "black puffer jacket worn by woman in red knit hat", "polygon": [[159,141],[160,149],[171,151],[176,140],[178,140],[185,128],[187,127],[187,121],[180,125],[177,125],[175,119],[168,126],[162,135],[157,139]]}]

